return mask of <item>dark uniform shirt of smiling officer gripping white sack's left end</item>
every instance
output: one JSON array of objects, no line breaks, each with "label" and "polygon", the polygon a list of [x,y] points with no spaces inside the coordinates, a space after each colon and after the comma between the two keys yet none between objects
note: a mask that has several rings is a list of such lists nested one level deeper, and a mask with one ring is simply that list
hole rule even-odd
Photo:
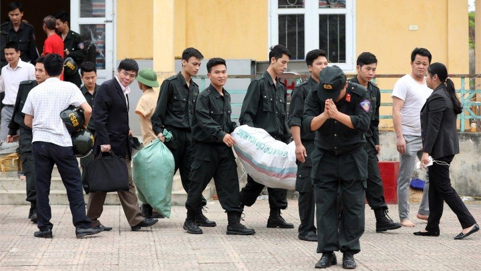
[{"label": "dark uniform shirt of smiling officer gripping white sack's left end", "polygon": [[224,96],[209,85],[199,94],[192,120],[193,141],[223,144],[224,136],[237,127],[231,120],[231,95],[225,89],[222,92]]}]

